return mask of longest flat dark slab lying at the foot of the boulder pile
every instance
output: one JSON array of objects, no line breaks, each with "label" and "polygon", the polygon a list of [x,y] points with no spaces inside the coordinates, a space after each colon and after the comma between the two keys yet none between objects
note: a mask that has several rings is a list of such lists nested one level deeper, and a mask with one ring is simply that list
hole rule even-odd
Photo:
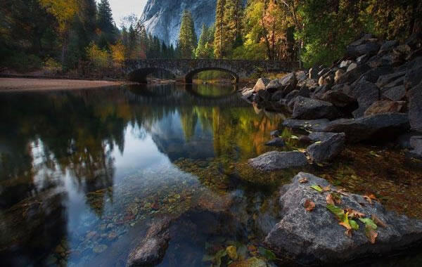
[{"label": "longest flat dark slab lying at the foot of the boulder pile", "polygon": [[383,113],[359,119],[336,119],[326,124],[320,131],[346,133],[346,140],[391,140],[409,130],[409,118],[405,113]]}]

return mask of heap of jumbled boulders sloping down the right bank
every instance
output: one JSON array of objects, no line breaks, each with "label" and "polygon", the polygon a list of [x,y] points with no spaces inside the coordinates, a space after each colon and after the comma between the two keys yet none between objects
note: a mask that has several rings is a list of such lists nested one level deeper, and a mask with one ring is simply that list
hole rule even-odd
[{"label": "heap of jumbled boulders sloping down the right bank", "polygon": [[293,120],[286,124],[302,127],[326,120],[313,130],[344,132],[352,142],[422,131],[421,40],[411,37],[399,44],[366,34],[331,67],[261,78],[253,88],[244,88],[242,96],[257,108],[288,110]]}]

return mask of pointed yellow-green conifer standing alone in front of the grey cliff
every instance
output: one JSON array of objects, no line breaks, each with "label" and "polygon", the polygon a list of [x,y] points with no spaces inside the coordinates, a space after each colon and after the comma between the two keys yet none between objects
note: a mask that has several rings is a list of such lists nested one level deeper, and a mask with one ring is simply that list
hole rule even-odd
[{"label": "pointed yellow-green conifer standing alone in front of the grey cliff", "polygon": [[195,25],[189,11],[184,11],[181,16],[178,48],[181,58],[192,58],[196,48]]}]

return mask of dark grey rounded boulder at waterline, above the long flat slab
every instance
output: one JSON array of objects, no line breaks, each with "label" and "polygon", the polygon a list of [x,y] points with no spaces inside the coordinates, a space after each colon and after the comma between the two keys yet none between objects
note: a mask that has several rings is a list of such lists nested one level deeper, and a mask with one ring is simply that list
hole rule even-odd
[{"label": "dark grey rounded boulder at waterline, above the long flat slab", "polygon": [[340,116],[340,112],[333,104],[298,96],[293,107],[294,119],[335,119]]}]

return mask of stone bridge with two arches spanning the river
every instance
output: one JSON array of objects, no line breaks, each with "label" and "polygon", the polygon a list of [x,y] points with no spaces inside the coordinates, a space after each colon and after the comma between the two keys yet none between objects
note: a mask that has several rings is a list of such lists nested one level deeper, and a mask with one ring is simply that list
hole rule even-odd
[{"label": "stone bridge with two arches spanning the river", "polygon": [[221,59],[148,59],[129,60],[125,72],[129,79],[146,83],[146,76],[155,71],[165,70],[177,79],[183,79],[186,84],[192,83],[195,74],[204,70],[221,70],[229,72],[236,82],[240,78],[250,77],[258,70],[271,72],[291,72],[299,67],[298,63],[269,60],[221,60]]}]

